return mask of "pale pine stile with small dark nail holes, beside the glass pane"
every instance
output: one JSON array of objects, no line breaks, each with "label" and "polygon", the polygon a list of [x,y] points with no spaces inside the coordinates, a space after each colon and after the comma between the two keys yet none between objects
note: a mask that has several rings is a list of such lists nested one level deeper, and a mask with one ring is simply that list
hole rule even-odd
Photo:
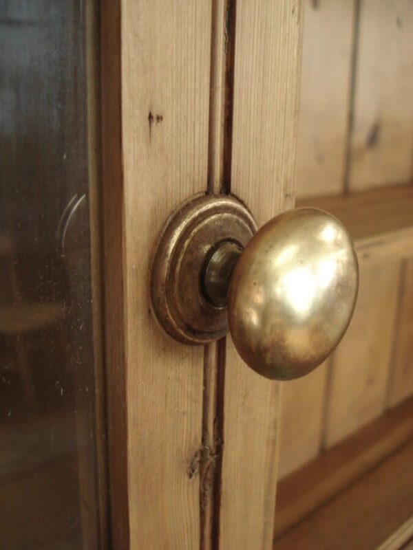
[{"label": "pale pine stile with small dark nail holes, beside the glass pane", "polygon": [[[123,227],[120,266],[111,269],[123,267],[124,317],[120,344],[112,344],[123,344],[130,547],[193,549],[200,544],[203,350],[161,333],[147,287],[165,219],[207,189],[211,3],[122,0],[120,7],[123,189],[121,179],[107,184],[121,192],[112,211]],[[107,320],[108,329],[118,321]]]}]

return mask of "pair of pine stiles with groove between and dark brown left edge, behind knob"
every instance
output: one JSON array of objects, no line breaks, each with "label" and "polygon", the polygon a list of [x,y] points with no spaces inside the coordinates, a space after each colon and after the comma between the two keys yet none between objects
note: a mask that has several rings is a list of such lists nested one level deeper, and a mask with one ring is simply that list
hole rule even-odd
[{"label": "pair of pine stiles with groove between and dark brown left edge, behind knob", "polygon": [[279,383],[231,338],[185,346],[149,301],[167,218],[236,195],[293,206],[298,0],[101,5],[105,351],[116,549],[270,549]]}]

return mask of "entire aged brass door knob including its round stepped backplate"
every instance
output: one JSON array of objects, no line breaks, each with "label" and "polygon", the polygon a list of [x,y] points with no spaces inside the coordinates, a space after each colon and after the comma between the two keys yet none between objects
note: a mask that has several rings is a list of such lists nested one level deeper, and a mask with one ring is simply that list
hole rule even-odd
[{"label": "entire aged brass door knob including its round stepped backplate", "polygon": [[255,234],[245,206],[226,195],[184,203],[153,259],[152,310],[180,342],[228,329],[252,369],[275,380],[304,376],[335,349],[352,317],[359,273],[346,228],[297,208]]}]

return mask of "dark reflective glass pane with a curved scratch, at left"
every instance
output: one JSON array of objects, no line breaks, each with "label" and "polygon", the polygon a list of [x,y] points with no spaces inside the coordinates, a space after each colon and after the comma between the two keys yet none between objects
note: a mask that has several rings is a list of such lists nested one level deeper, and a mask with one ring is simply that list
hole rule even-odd
[{"label": "dark reflective glass pane with a curved scratch, at left", "polygon": [[0,0],[5,550],[102,544],[84,12],[80,0]]}]

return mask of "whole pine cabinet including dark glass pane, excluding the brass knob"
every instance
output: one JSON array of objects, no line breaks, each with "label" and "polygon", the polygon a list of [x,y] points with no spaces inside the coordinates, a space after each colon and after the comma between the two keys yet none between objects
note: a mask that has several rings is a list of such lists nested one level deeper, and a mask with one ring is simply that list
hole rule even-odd
[{"label": "whole pine cabinet including dark glass pane, excluding the brass knob", "polygon": [[[1,283],[0,384],[13,391],[0,399],[0,547],[401,548],[413,536],[412,2],[64,4],[0,7],[0,252],[26,270],[12,307],[57,311],[35,327],[46,344],[10,336]],[[195,193],[235,195],[258,225],[297,197],[348,227],[359,300],[319,369],[281,384],[230,336],[184,346],[156,325],[154,248]]]}]

